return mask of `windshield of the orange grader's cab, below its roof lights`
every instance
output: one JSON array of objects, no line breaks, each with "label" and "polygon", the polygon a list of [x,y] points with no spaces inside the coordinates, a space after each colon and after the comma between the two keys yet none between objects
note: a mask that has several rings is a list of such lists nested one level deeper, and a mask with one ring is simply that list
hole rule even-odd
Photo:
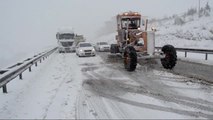
[{"label": "windshield of the orange grader's cab, below its roof lights", "polygon": [[140,19],[139,18],[124,18],[121,20],[122,28],[127,29],[138,29],[140,28]]}]

